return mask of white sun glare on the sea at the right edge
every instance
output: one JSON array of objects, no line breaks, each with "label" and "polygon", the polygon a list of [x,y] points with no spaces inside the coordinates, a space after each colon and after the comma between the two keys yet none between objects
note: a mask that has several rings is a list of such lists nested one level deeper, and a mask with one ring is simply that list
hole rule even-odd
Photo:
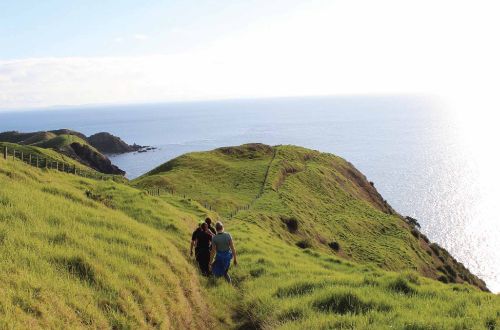
[{"label": "white sun glare on the sea at the right edge", "polygon": [[463,236],[454,241],[460,245],[459,259],[493,292],[500,291],[498,105],[498,100],[484,94],[447,102],[456,149],[468,167],[466,175],[456,176],[457,186],[467,191],[453,193],[466,194],[468,203],[463,210]]}]

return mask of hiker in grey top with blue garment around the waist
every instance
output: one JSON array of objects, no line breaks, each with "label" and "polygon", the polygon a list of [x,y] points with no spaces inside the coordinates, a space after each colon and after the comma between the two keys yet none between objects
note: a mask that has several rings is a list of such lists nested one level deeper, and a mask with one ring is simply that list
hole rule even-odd
[{"label": "hiker in grey top with blue garment around the waist", "polygon": [[226,281],[231,283],[231,277],[228,274],[231,259],[234,258],[234,265],[238,265],[233,238],[229,233],[224,232],[224,226],[220,221],[215,224],[215,230],[217,230],[217,234],[212,238],[212,251],[210,253],[210,260],[213,260],[215,256],[212,274],[216,277],[224,276]]}]

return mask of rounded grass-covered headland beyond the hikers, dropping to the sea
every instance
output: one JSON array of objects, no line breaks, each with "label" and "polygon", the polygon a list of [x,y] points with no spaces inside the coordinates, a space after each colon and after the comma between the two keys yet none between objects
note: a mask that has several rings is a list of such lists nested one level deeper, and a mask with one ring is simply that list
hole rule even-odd
[{"label": "rounded grass-covered headland beyond the hikers, dropping to the sea", "polygon": [[179,191],[224,215],[250,203],[237,218],[288,243],[485,288],[403,221],[364,175],[331,154],[260,144],[220,148],[176,158],[134,184]]}]

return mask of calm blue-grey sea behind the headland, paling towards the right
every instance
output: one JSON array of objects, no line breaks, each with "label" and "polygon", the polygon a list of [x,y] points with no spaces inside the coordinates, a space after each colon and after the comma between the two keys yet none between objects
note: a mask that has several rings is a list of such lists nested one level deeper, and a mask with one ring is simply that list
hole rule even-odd
[{"label": "calm blue-grey sea behind the headland, paling towards the right", "polygon": [[[0,131],[71,128],[156,146],[112,156],[135,178],[189,151],[262,142],[344,157],[403,215],[500,291],[496,201],[440,105],[418,97],[289,98],[0,113]],[[485,211],[486,210],[486,211]]]}]

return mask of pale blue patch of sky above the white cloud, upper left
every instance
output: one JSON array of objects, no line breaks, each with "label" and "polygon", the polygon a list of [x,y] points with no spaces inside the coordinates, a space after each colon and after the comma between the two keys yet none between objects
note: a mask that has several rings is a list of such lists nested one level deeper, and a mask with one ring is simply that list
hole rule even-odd
[{"label": "pale blue patch of sky above the white cloud, upper left", "polygon": [[133,56],[202,48],[297,1],[2,1],[1,59]]}]

